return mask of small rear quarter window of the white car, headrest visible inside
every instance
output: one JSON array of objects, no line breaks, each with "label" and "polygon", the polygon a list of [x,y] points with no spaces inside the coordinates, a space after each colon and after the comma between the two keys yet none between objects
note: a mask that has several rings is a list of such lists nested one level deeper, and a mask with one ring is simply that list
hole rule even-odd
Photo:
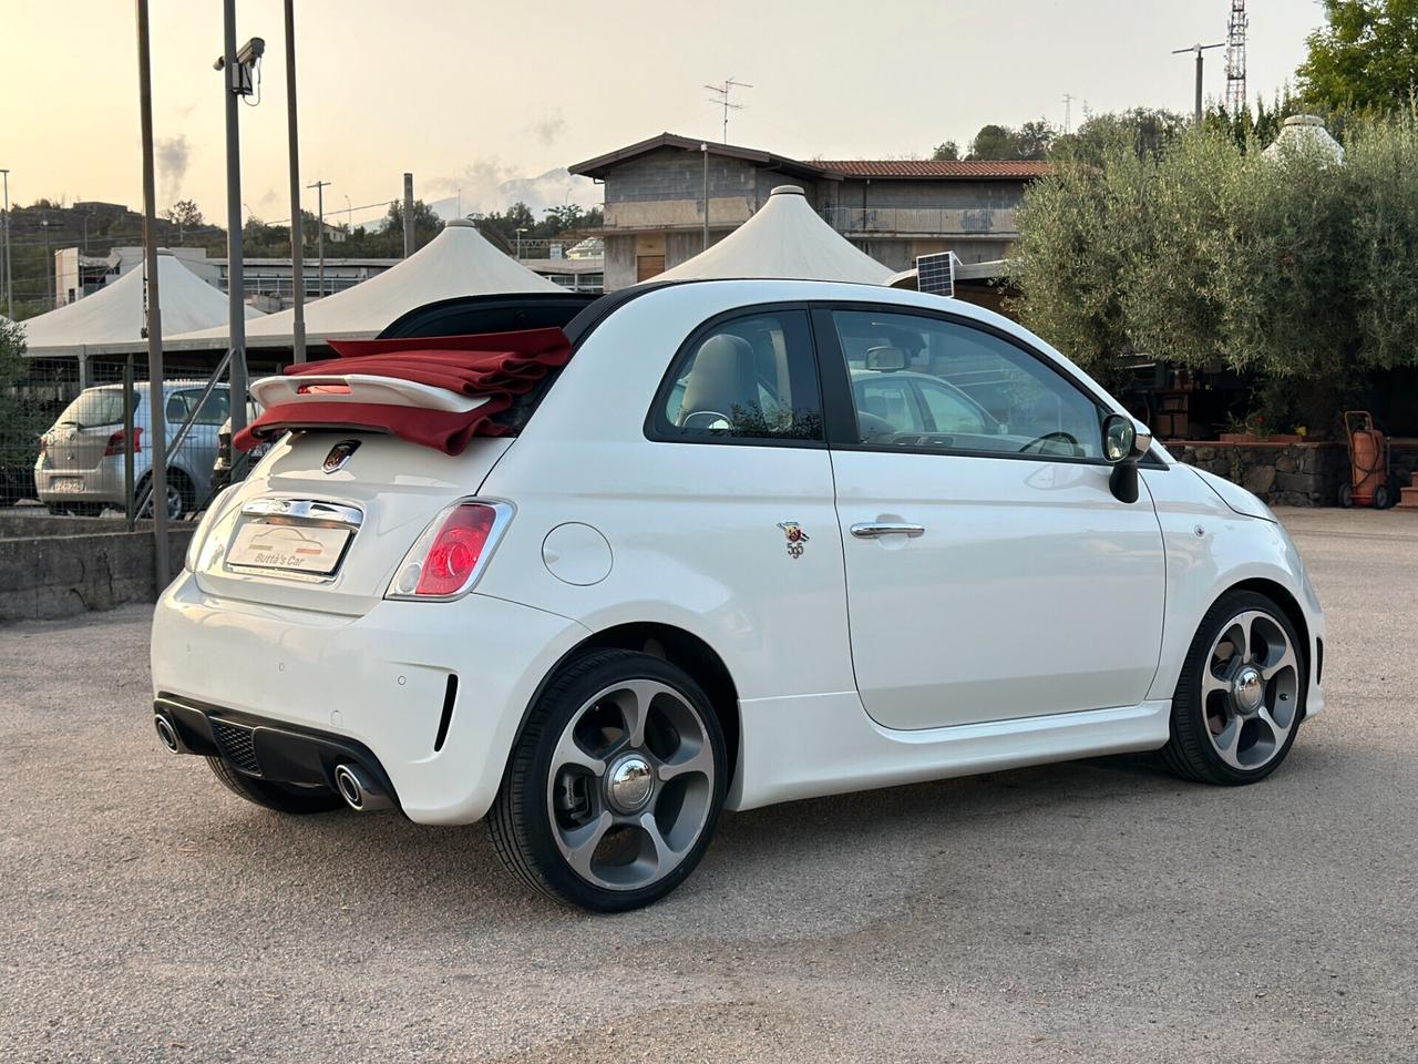
[{"label": "small rear quarter window of the white car, headrest visible inside", "polygon": [[651,424],[662,440],[821,440],[804,311],[719,322],[675,359]]}]

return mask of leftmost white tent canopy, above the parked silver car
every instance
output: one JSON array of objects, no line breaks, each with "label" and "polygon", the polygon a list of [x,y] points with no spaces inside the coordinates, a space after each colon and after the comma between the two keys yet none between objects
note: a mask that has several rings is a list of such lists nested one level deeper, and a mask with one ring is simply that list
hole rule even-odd
[{"label": "leftmost white tent canopy, above the parked silver car", "polygon": [[[227,295],[174,255],[157,254],[163,333],[206,329],[227,321]],[[261,312],[247,308],[247,318]],[[143,271],[130,270],[92,295],[21,322],[26,353],[40,358],[106,355],[143,345]]]}]

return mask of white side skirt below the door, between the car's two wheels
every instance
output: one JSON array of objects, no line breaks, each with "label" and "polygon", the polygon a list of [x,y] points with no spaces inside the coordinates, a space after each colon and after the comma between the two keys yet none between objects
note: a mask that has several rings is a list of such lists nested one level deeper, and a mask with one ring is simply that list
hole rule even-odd
[{"label": "white side skirt below the door, between the car's two wheels", "polygon": [[892,731],[855,691],[740,702],[743,735],[727,807],[895,787],[1167,743],[1171,699],[1116,709]]}]

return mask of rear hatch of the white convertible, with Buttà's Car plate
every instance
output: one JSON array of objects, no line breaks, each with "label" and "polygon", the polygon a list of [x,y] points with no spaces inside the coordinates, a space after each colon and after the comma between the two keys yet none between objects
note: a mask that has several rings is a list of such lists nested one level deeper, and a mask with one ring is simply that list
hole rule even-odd
[{"label": "rear hatch of the white convertible, with Butt\u00e0's Car plate", "polygon": [[223,498],[197,583],[223,599],[362,616],[418,533],[476,494],[510,445],[478,437],[448,455],[379,433],[294,433]]}]

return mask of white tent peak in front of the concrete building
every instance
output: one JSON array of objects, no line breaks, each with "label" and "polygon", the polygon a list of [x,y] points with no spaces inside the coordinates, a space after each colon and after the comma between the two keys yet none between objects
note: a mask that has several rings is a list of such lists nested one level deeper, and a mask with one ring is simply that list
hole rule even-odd
[{"label": "white tent peak in front of the concrete building", "polygon": [[780,184],[757,214],[706,251],[657,281],[777,277],[883,285],[892,271],[852,247],[808,206],[795,184]]}]

